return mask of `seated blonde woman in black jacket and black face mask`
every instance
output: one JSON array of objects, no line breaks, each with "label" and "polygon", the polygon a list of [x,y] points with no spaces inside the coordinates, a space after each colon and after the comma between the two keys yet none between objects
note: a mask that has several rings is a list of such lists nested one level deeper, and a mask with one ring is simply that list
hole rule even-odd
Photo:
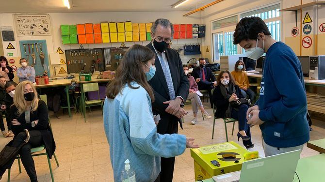
[{"label": "seated blonde woman in black jacket and black face mask", "polygon": [[[16,86],[11,116],[11,129],[15,134],[13,147],[18,147],[26,139],[24,129],[30,133],[30,140],[21,148],[19,155],[31,182],[37,182],[31,148],[45,145],[51,158],[55,151],[55,142],[49,128],[49,110],[45,102],[38,99],[32,82],[23,81]],[[5,170],[12,166],[14,160],[9,161],[6,167],[0,168],[0,179]]]}]

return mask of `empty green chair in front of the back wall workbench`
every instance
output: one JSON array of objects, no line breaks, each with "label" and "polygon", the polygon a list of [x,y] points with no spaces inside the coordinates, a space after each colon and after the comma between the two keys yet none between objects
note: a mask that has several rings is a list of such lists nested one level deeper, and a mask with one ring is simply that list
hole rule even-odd
[{"label": "empty green chair in front of the back wall workbench", "polygon": [[[84,122],[86,122],[86,107],[91,107],[91,106],[101,106],[101,113],[103,114],[103,102],[100,100],[100,96],[99,96],[99,87],[98,87],[98,83],[85,83],[82,85],[83,87],[83,103],[84,103],[84,108],[83,108],[83,118],[84,118]],[[85,93],[89,92],[89,91],[97,91],[98,92],[98,99],[97,100],[91,100],[91,101],[87,101],[86,100],[86,96]]]}]

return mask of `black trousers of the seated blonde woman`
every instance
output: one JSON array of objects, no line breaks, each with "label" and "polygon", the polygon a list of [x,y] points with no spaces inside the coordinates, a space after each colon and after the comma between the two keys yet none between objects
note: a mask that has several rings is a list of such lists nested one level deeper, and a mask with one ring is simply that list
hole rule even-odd
[{"label": "black trousers of the seated blonde woman", "polygon": [[[43,139],[42,139],[41,132],[38,130],[29,131],[29,134],[30,134],[30,140],[27,144],[25,144],[20,149],[19,155],[21,158],[21,163],[25,167],[25,170],[26,170],[28,176],[30,177],[31,182],[37,182],[35,164],[34,164],[32,154],[31,154],[31,148],[39,147],[39,146],[43,145]],[[18,147],[24,142],[25,139],[26,139],[26,133],[21,132],[14,138],[14,142],[11,146]],[[11,161],[9,161],[8,164],[4,168],[0,169],[0,176],[3,175],[3,173],[5,172],[6,169],[11,168],[14,161],[15,161],[15,158],[12,159]]]}]

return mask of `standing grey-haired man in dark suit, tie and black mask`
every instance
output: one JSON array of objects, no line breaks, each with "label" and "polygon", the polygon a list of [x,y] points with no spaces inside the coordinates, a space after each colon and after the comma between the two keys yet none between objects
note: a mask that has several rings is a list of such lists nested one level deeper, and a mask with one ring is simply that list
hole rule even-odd
[{"label": "standing grey-haired man in dark suit, tie and black mask", "polygon": [[[146,45],[154,53],[156,74],[151,78],[151,85],[155,101],[152,103],[154,115],[160,115],[157,125],[159,134],[175,134],[178,132],[178,122],[182,128],[180,118],[186,115],[181,107],[189,93],[189,82],[183,71],[179,54],[168,45],[174,28],[167,19],[157,19],[151,27],[152,41]],[[161,182],[173,180],[175,157],[161,157]]]}]

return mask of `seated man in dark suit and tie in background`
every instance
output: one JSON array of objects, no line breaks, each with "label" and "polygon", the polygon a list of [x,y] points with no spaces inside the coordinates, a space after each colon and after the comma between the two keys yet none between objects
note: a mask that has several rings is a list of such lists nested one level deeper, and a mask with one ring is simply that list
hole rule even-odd
[{"label": "seated man in dark suit and tie in background", "polygon": [[212,105],[211,89],[217,86],[215,77],[209,67],[205,66],[206,62],[204,58],[200,58],[200,66],[196,67],[192,71],[192,76],[195,78],[198,90],[208,90],[210,97],[210,104]]}]

